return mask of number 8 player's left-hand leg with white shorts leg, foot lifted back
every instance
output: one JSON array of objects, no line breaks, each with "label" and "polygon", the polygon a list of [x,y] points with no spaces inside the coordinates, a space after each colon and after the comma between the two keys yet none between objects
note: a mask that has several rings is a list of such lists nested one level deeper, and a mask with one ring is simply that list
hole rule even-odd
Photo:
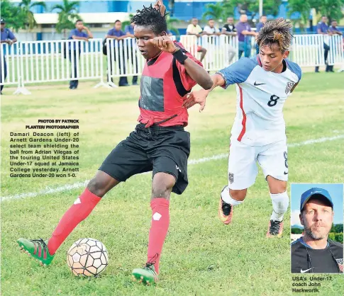
[{"label": "number 8 player's left-hand leg with white shorts leg, foot lifted back", "polygon": [[231,140],[228,158],[228,186],[223,187],[218,203],[218,217],[223,224],[229,224],[233,207],[243,203],[247,188],[255,183],[257,165],[255,147]]}]

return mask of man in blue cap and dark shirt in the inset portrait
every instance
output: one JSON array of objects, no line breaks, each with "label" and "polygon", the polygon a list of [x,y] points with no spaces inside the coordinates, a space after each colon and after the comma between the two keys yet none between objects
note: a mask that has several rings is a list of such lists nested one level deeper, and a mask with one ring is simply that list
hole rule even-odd
[{"label": "man in blue cap and dark shirt in the inset portrait", "polygon": [[301,195],[304,236],[292,243],[292,273],[343,273],[343,244],[328,239],[333,214],[327,190],[311,188]]}]

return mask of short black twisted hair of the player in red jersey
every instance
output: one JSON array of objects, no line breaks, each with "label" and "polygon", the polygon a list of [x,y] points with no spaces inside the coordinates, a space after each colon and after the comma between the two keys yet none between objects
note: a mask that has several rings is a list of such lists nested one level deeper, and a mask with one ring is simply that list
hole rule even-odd
[{"label": "short black twisted hair of the player in red jersey", "polygon": [[131,19],[131,23],[148,27],[155,35],[167,31],[166,16],[168,13],[165,12],[164,16],[162,16],[160,9],[152,7],[152,4],[149,7],[143,6],[142,10],[136,12],[135,16]]}]

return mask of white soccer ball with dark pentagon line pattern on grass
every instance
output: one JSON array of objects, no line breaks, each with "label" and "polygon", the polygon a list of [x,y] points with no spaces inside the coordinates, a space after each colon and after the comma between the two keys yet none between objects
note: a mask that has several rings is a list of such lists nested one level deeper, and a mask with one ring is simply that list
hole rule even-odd
[{"label": "white soccer ball with dark pentagon line pattern on grass", "polygon": [[109,264],[109,256],[101,241],[79,239],[67,251],[67,264],[74,275],[97,276]]}]

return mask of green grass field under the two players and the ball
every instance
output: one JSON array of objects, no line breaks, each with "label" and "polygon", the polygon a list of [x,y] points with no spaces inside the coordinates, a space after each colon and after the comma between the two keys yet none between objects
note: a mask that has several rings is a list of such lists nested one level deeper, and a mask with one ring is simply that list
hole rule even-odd
[{"label": "green grass field under the two players and the ball", "polygon": [[[77,91],[65,85],[32,87],[31,96],[12,96],[13,89],[4,90],[1,190],[7,200],[1,203],[1,295],[292,295],[289,212],[284,237],[266,239],[272,206],[261,171],[245,203],[235,207],[233,223],[224,226],[218,220],[218,197],[227,182],[226,157],[190,164],[189,187],[183,195],[172,195],[156,287],[131,282],[131,271],[146,258],[150,174],[134,176],[108,193],[62,244],[48,268],[21,254],[16,239],[50,237],[83,188],[21,199],[13,195],[89,180],[135,127],[138,86],[91,89],[91,85],[80,84]],[[343,74],[306,73],[287,100],[287,137],[294,144],[288,153],[290,182],[343,183],[343,97]],[[234,87],[213,91],[204,113],[190,110],[190,159],[227,154],[234,116]],[[80,120],[77,178],[9,178],[9,132],[24,132],[25,125],[45,118]],[[323,142],[305,142],[318,139]],[[109,266],[100,278],[75,278],[67,268],[65,251],[82,237],[99,239],[109,250]],[[320,295],[340,295],[344,276],[333,275],[318,289]]]}]

